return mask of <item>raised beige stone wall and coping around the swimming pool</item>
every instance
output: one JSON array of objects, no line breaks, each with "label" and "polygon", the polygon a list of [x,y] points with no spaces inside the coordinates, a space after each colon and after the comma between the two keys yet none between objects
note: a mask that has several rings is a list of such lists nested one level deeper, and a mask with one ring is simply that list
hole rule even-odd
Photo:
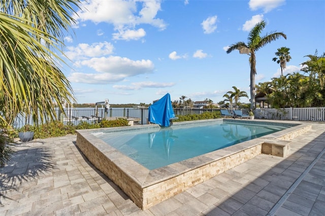
[{"label": "raised beige stone wall and coping around the swimming pool", "polygon": [[[192,121],[190,123],[206,121],[250,122],[249,120],[219,119]],[[279,124],[279,122],[255,120],[252,123]],[[293,127],[154,170],[143,167],[91,134],[98,129],[78,130],[77,146],[88,160],[119,186],[136,205],[142,209],[147,209],[259,154],[286,157],[290,154],[290,144],[292,145],[289,140],[310,130],[311,125],[284,123]],[[283,125],[282,122],[281,124]],[[159,126],[132,126],[136,130],[148,127]],[[121,131],[129,129],[131,128],[119,127],[103,130]]]}]

